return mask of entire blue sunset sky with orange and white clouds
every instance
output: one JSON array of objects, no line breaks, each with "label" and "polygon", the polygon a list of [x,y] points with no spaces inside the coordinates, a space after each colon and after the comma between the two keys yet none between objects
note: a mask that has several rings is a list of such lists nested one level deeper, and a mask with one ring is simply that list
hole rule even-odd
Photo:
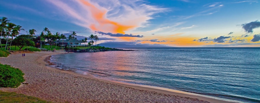
[{"label": "entire blue sunset sky with orange and white clouds", "polygon": [[[259,0],[1,0],[0,17],[109,47],[260,47]],[[88,38],[88,40],[90,40]]]}]

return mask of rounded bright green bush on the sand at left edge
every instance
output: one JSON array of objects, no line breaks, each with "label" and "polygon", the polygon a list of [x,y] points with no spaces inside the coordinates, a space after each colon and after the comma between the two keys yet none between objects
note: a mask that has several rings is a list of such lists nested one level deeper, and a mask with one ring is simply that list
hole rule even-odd
[{"label": "rounded bright green bush on the sand at left edge", "polygon": [[18,68],[0,64],[0,87],[18,87],[25,81],[23,75]]}]

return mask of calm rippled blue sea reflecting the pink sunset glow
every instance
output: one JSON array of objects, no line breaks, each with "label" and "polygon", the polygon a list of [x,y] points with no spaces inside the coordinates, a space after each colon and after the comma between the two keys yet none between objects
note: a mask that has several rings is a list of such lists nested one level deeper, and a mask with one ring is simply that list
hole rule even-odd
[{"label": "calm rippled blue sea reflecting the pink sunset glow", "polygon": [[260,48],[119,48],[53,55],[60,68],[98,78],[260,102]]}]

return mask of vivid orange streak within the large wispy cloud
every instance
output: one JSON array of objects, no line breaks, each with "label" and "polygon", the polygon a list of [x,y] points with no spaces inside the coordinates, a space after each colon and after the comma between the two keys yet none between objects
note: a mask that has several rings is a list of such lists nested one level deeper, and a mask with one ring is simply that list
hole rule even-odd
[{"label": "vivid orange streak within the large wispy cloud", "polygon": [[98,31],[100,29],[105,29],[102,31],[125,34],[124,31],[136,27],[133,25],[121,25],[117,22],[111,21],[105,17],[105,14],[107,13],[106,10],[100,10],[99,8],[95,7],[85,0],[80,0],[80,2],[89,8],[91,15],[98,22],[98,24],[90,25],[91,30]]}]

